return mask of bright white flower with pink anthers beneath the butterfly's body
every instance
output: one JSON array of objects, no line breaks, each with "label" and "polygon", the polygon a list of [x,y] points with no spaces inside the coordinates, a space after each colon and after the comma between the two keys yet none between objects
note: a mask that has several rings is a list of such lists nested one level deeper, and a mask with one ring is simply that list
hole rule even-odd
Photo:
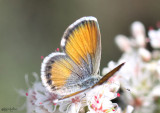
[{"label": "bright white flower with pink anthers beneath the butterfly's body", "polygon": [[118,84],[107,83],[97,86],[86,95],[89,112],[87,113],[117,113],[118,105],[110,100],[117,97]]}]

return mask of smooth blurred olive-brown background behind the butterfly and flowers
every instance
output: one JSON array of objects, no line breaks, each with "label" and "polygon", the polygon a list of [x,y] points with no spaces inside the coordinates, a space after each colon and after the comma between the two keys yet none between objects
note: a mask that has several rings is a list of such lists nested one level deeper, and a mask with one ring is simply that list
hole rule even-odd
[{"label": "smooth blurred olive-brown background behind the butterfly and flowers", "polygon": [[102,69],[121,56],[114,37],[130,35],[133,21],[155,27],[160,0],[0,0],[0,113],[23,103],[16,89],[27,90],[24,75],[33,81],[32,72],[40,74],[40,57],[60,47],[65,29],[83,16],[99,21]]}]

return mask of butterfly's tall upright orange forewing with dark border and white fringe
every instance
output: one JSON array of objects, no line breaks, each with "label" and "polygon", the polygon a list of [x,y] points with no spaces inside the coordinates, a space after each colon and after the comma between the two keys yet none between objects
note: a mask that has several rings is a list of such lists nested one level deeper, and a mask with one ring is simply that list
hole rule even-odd
[{"label": "butterfly's tall upright orange forewing with dark border and white fringe", "polygon": [[97,19],[83,17],[70,25],[61,41],[64,52],[89,76],[96,75],[101,59],[100,30]]}]

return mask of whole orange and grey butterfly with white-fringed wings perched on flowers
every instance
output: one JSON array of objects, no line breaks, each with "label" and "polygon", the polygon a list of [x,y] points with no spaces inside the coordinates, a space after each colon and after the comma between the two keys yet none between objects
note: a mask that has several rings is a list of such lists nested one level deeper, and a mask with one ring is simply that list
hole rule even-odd
[{"label": "whole orange and grey butterfly with white-fringed wings perched on flowers", "polygon": [[61,39],[63,52],[53,52],[41,65],[43,85],[58,100],[67,99],[109,80],[124,63],[105,76],[99,75],[101,34],[95,17],[82,17],[71,24]]}]

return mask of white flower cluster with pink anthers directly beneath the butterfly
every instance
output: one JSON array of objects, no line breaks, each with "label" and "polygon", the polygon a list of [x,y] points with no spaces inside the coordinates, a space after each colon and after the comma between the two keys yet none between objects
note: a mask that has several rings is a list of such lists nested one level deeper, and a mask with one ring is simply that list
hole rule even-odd
[{"label": "white flower cluster with pink anthers directly beneath the butterfly", "polygon": [[[26,76],[28,90],[19,90],[19,93],[26,97],[27,113],[122,113],[120,107],[111,101],[120,96],[117,93],[120,85],[115,78],[85,93],[56,102],[57,95],[48,92],[38,80],[38,75],[33,75],[36,78],[33,85],[29,85]],[[133,108],[128,106],[126,113],[131,113],[132,110]]]}]

